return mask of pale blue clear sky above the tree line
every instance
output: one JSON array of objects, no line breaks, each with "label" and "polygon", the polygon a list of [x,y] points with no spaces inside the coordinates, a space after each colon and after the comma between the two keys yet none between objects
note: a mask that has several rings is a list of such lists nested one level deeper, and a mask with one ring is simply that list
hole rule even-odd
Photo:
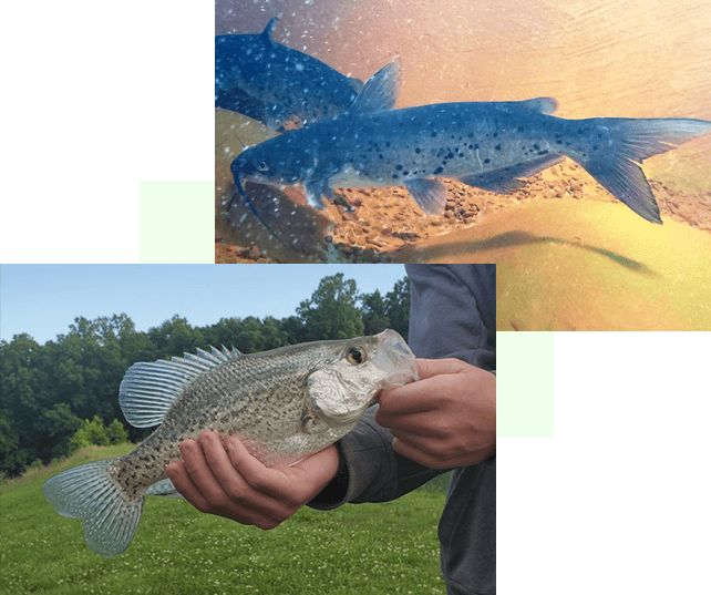
[{"label": "pale blue clear sky above the tree line", "polygon": [[27,332],[44,343],[78,316],[122,312],[143,331],[175,314],[196,327],[284,318],[336,273],[368,294],[385,294],[405,277],[403,265],[1,265],[0,338]]}]

